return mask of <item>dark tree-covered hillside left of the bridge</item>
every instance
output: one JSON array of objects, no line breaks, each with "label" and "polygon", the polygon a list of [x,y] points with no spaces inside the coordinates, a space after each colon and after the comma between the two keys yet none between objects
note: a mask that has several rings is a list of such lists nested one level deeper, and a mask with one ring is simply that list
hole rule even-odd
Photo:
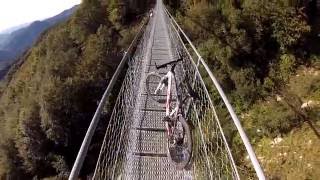
[{"label": "dark tree-covered hillside left of the bridge", "polygon": [[[140,24],[136,16],[150,1],[141,4],[130,11],[120,0],[83,0],[13,66],[0,97],[0,179],[68,176],[120,51]],[[82,176],[92,173],[100,144],[90,147]]]}]

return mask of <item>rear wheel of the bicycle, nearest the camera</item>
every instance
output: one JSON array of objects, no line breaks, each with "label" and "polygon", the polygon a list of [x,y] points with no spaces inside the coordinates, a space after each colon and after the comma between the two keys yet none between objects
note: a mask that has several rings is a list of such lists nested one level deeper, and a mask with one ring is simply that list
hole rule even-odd
[{"label": "rear wheel of the bicycle, nearest the camera", "polygon": [[192,156],[192,139],[190,127],[182,115],[177,117],[177,125],[172,129],[174,143],[168,138],[167,155],[177,169],[184,169]]}]

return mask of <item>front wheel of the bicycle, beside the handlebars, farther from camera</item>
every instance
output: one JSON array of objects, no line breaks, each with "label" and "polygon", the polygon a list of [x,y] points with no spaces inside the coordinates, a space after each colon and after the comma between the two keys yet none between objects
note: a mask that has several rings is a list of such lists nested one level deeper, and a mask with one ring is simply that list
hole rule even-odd
[{"label": "front wheel of the bicycle, beside the handlebars, farther from camera", "polygon": [[158,73],[151,72],[146,78],[146,91],[148,96],[158,105],[164,106],[167,98],[168,82],[164,84],[161,90],[156,92],[157,87],[161,81],[161,76]]}]

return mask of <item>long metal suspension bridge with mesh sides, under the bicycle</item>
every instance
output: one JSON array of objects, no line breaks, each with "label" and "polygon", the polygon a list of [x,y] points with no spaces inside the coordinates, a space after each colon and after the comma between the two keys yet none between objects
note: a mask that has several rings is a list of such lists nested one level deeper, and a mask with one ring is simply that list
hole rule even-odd
[{"label": "long metal suspension bridge with mesh sides, under the bicycle", "polygon": [[[145,78],[178,58],[177,81],[187,80],[199,100],[184,111],[192,124],[193,155],[178,170],[166,155],[165,109],[146,92]],[[160,71],[160,72],[159,72]],[[166,69],[158,70],[164,74]],[[142,26],[114,73],[88,128],[69,179],[77,179],[91,139],[120,74],[125,74],[92,179],[240,179],[230,140],[223,127],[233,125],[259,179],[265,179],[255,153],[218,81],[161,0]],[[176,82],[177,83],[177,82]],[[175,92],[174,92],[175,94]],[[183,93],[182,93],[183,94]],[[213,100],[213,94],[219,96]],[[236,147],[235,147],[236,148]]]}]

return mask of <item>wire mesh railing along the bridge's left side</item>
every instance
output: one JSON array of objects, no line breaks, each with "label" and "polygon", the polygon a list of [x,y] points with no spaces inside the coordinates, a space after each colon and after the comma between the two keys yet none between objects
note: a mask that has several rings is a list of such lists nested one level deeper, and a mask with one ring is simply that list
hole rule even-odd
[{"label": "wire mesh railing along the bridge's left side", "polygon": [[118,179],[124,176],[129,147],[128,137],[141,81],[143,59],[150,38],[151,22],[146,26],[128,68],[101,147],[93,179]]}]

